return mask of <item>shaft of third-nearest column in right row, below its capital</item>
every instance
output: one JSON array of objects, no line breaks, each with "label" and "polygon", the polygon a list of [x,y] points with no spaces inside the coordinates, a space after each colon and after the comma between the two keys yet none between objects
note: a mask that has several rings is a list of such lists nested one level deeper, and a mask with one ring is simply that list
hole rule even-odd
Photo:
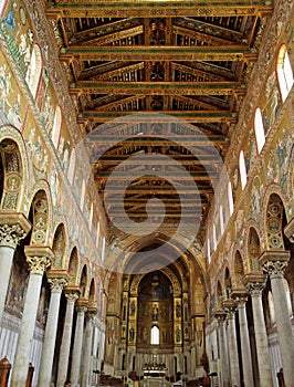
[{"label": "shaft of third-nearest column in right row, below its capital", "polygon": [[254,387],[251,348],[250,348],[250,339],[249,339],[249,331],[248,331],[248,317],[246,317],[246,310],[245,310],[244,303],[239,304],[238,314],[239,314],[244,385],[245,387]]}]

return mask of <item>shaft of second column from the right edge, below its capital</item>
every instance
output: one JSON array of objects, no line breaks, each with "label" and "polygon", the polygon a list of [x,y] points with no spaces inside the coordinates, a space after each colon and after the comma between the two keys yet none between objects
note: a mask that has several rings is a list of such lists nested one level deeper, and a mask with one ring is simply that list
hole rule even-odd
[{"label": "shaft of second column from the right edge, below its capital", "polygon": [[251,297],[260,375],[260,387],[272,387],[272,370],[269,354],[267,335],[263,317],[261,292],[252,292]]}]

